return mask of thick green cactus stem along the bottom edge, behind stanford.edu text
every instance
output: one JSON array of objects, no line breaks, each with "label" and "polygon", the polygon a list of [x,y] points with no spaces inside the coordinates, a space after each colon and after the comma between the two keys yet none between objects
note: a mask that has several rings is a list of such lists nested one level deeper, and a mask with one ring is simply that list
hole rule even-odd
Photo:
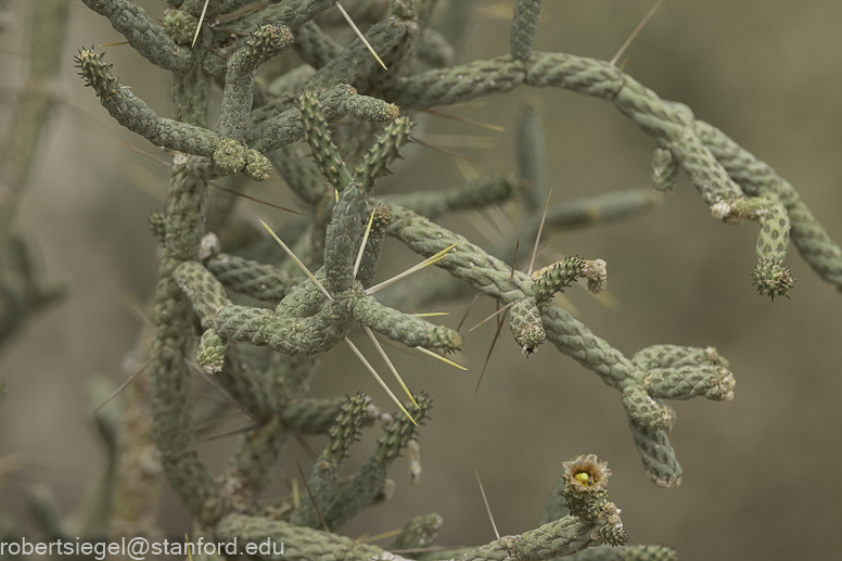
[{"label": "thick green cactus stem along the bottom edge, behind stanford.edu text", "polygon": [[263,561],[406,561],[377,546],[339,534],[248,514],[228,514],[216,525],[216,536],[220,541],[235,541],[241,551],[250,545],[257,551],[260,544],[268,544],[268,553],[251,556]]}]

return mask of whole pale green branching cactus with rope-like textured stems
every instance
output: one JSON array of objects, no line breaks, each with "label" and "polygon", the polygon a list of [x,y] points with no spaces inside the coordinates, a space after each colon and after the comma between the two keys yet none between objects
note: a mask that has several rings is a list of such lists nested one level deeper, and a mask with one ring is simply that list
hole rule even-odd
[{"label": "whole pale green branching cactus with rope-like textured stems", "polygon": [[[431,22],[444,8],[435,0],[393,0],[388,13],[383,2],[347,2],[349,11],[370,18],[366,37],[387,72],[359,39],[342,47],[316,22],[320,15],[322,22],[335,17],[336,0],[261,2],[259,9],[242,13],[237,12],[243,4],[239,0],[212,1],[195,46],[192,35],[204,7],[199,0],[170,1],[173,10],[163,25],[132,0],[84,2],[107,17],[146,60],[173,73],[174,115],[163,117],[114,77],[102,55],[82,50],[77,56],[86,84],[112,117],[174,153],[165,207],[151,219],[163,245],[151,345],[151,412],[167,480],[202,532],[216,539],[238,539],[243,547],[267,539],[283,543],[284,559],[403,559],[324,532],[322,524],[328,531],[339,528],[379,500],[390,466],[410,439],[419,437],[417,426],[396,415],[371,459],[343,482],[342,460],[359,428],[372,420],[369,399],[361,394],[347,399],[305,396],[316,368],[311,357],[341,344],[356,323],[410,347],[448,353],[462,346],[459,332],[390,307],[379,294],[366,292],[374,281],[386,235],[424,257],[456,244],[436,264],[454,280],[449,285],[430,283],[426,292],[418,292],[419,299],[479,291],[511,304],[511,332],[524,354],[549,341],[616,388],[643,468],[659,486],[678,485],[682,476],[667,438],[674,412],[661,400],[733,397],[728,364],[712,347],[654,345],[629,359],[554,306],[552,296],[590,275],[588,264],[594,262],[572,257],[530,276],[509,265],[513,243],[486,251],[432,221],[445,213],[520,197],[525,213],[518,235],[525,242],[535,238],[541,220],[547,226],[584,226],[633,217],[656,206],[660,193],[634,190],[556,204],[543,219],[548,186],[544,133],[534,105],[524,110],[516,128],[520,177],[496,174],[438,192],[375,193],[379,180],[410,141],[412,122],[400,117],[401,110],[461,103],[521,86],[564,88],[608,100],[654,140],[655,190],[671,191],[682,169],[715,216],[761,224],[754,276],[761,293],[788,294],[792,281],[783,259],[790,234],[816,272],[842,290],[842,251],[794,189],[766,164],[718,129],[696,120],[689,107],[662,100],[613,64],[534,51],[539,0],[514,3],[510,54],[449,68],[436,65],[452,60],[461,33],[456,29],[472,2],[450,2],[445,24],[437,29]],[[222,16],[224,28],[210,23]],[[305,64],[293,67],[291,61]],[[256,79],[263,67],[275,73],[266,87]],[[222,106],[218,126],[210,127],[214,84],[221,86]],[[347,132],[333,130],[331,123],[344,117],[363,125]],[[301,145],[294,145],[302,139],[312,162],[303,160]],[[305,213],[291,227],[298,239],[290,240],[290,245],[318,283],[289,262],[246,258],[225,241],[210,251],[203,245],[210,205],[207,181],[234,174],[265,180],[272,169],[284,178]],[[523,189],[526,186],[528,190]],[[372,212],[373,226],[355,271]],[[219,228],[235,230],[237,225],[226,220],[233,219],[225,215]],[[256,238],[247,225],[243,230],[248,232],[244,238]],[[257,365],[234,343],[270,347],[276,355],[268,365]],[[221,477],[210,475],[195,448],[190,405],[193,361],[213,372],[256,421],[241,436]],[[416,400],[418,407],[405,407],[421,423],[430,397]],[[314,502],[302,497],[297,506],[288,498],[267,503],[263,495],[270,469],[292,430],[327,433],[330,438],[308,480]],[[607,495],[566,513],[557,496],[563,485],[560,480],[538,528],[442,553],[449,557],[425,553],[419,559],[675,558],[674,551],[660,546],[588,549],[624,544],[622,524]],[[395,547],[429,545],[441,524],[435,515],[410,522]]]}]

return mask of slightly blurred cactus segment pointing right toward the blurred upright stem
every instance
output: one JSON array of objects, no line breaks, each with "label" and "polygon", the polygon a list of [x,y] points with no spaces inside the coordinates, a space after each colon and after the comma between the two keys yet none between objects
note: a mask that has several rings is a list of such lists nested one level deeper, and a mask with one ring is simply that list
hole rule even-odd
[{"label": "slightly blurred cactus segment pointing right toward the blurred upright stem", "polygon": [[488,205],[503,203],[512,199],[519,189],[520,182],[515,177],[508,174],[496,174],[451,189],[388,195],[388,200],[422,216],[435,219],[448,212],[484,208]]}]

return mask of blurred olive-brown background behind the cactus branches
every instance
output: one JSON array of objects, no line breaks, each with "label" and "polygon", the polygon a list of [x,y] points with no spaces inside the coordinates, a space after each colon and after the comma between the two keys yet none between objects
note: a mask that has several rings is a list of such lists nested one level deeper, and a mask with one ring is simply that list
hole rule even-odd
[{"label": "blurred olive-brown background behind the cactus branches", "polygon": [[[140,3],[153,15],[163,13],[157,0]],[[457,63],[508,52],[513,2],[477,3]],[[535,48],[611,59],[653,3],[546,1]],[[0,35],[2,130],[28,50],[29,2],[12,1],[9,9],[16,23]],[[66,65],[56,85],[63,102],[42,139],[16,218],[37,250],[38,268],[64,283],[67,296],[0,348],[0,378],[7,383],[0,456],[22,455],[22,468],[2,480],[0,506],[24,527],[28,486],[48,486],[62,511],[72,512],[103,469],[86,384],[97,374],[116,383],[126,375],[120,365],[142,327],[128,303],[146,302],[154,286],[157,244],[146,217],[161,208],[167,177],[164,166],[118,142],[162,155],[113,123],[73,68],[79,47],[122,38],[80,2],[73,1],[68,13]],[[625,72],[662,98],[688,104],[698,118],[769,163],[839,241],[841,26],[839,2],[669,0],[624,54]],[[167,74],[129,47],[104,50],[122,82],[168,115]],[[503,132],[431,117],[424,133],[479,161],[477,173],[514,171],[512,125],[527,99],[543,107],[553,202],[648,184],[652,141],[611,104],[566,91],[522,88],[459,113],[505,127]],[[463,181],[451,157],[419,146],[408,152],[385,192]],[[248,192],[293,204],[279,179]],[[246,204],[246,212],[275,224],[288,219]],[[443,224],[485,242],[459,216]],[[664,490],[649,482],[618,394],[550,345],[526,362],[505,329],[474,395],[495,331],[492,321],[468,337],[461,357],[468,372],[394,357],[410,387],[435,399],[432,421],[421,431],[422,483],[410,487],[406,462],[399,460],[391,475],[397,481],[394,498],[365,511],[342,533],[374,535],[435,511],[445,520],[437,544],[487,543],[494,534],[474,469],[500,533],[522,533],[535,527],[560,462],[594,452],[614,472],[612,498],[623,510],[632,543],[668,545],[685,560],[835,557],[842,520],[842,295],[791,248],[787,264],[798,279],[792,299],[771,303],[758,296],[750,279],[756,234],[756,224],[727,226],[711,219],[681,177],[653,213],[545,237],[551,243],[538,266],[557,254],[608,263],[615,305],[576,288],[567,298],[576,317],[621,352],[630,356],[658,343],[713,345],[730,360],[737,379],[733,401],[673,404],[678,420],[671,441],[684,467],[679,487]],[[525,248],[531,251],[531,241],[521,241],[522,256]],[[417,260],[390,242],[381,275],[386,278]],[[442,309],[455,324],[467,305]],[[493,303],[481,298],[467,326],[493,310]],[[312,395],[362,390],[391,409],[385,394],[353,361],[342,347],[324,357]],[[363,433],[349,469],[365,461],[378,433]],[[319,449],[321,442],[312,443]],[[232,444],[232,438],[214,441],[201,450],[220,469]],[[288,445],[284,458],[289,474],[295,458],[307,471],[310,460],[297,445]],[[277,492],[286,493],[282,483]],[[160,520],[177,539],[191,531],[168,489]]]}]

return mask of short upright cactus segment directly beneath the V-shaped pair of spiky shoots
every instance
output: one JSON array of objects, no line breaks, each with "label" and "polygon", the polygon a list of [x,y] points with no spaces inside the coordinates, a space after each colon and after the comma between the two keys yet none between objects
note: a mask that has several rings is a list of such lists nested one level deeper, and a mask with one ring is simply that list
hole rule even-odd
[{"label": "short upright cactus segment directly beneath the V-shaped pair of spiky shoots", "polygon": [[354,283],[354,262],[369,217],[366,193],[350,183],[340,194],[324,238],[328,291],[334,296]]}]

